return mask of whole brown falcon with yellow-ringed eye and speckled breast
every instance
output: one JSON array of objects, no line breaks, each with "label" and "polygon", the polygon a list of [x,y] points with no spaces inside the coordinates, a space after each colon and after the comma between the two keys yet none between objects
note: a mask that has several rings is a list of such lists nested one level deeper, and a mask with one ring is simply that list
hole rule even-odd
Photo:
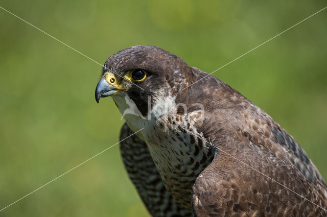
[{"label": "whole brown falcon with yellow-ringed eye and speckled breast", "polygon": [[109,96],[126,120],[128,176],[152,216],[327,216],[327,185],[294,138],[180,57],[145,45],[113,54],[96,88],[97,102]]}]

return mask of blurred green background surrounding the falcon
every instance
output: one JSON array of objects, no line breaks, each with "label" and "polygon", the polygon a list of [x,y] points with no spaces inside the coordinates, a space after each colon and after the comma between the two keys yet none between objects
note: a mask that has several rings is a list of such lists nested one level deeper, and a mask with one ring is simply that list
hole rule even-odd
[{"label": "blurred green background surrounding the falcon", "polygon": [[[0,6],[103,64],[160,46],[211,72],[325,1],[9,1]],[[214,75],[263,108],[327,179],[327,9]],[[118,142],[124,121],[96,104],[101,66],[0,9],[0,209]],[[119,147],[0,216],[147,216]]]}]

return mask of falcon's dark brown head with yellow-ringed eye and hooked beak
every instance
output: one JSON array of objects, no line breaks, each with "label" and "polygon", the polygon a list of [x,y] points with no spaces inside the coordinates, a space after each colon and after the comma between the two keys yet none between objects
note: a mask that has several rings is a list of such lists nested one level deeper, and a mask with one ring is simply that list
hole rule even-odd
[{"label": "falcon's dark brown head with yellow-ringed eye and hooked beak", "polygon": [[121,113],[130,108],[130,99],[146,116],[149,105],[176,98],[194,80],[192,68],[180,57],[155,46],[132,46],[105,62],[95,97],[99,103],[111,96]]}]

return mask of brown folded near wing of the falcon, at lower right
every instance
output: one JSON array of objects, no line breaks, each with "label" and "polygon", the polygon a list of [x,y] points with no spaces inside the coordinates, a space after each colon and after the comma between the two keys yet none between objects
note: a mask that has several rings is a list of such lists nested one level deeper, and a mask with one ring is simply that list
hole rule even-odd
[{"label": "brown folded near wing of the falcon, at lower right", "polygon": [[195,216],[327,215],[317,206],[327,207],[323,187],[307,181],[292,164],[255,144],[217,147],[216,152],[193,186]]}]

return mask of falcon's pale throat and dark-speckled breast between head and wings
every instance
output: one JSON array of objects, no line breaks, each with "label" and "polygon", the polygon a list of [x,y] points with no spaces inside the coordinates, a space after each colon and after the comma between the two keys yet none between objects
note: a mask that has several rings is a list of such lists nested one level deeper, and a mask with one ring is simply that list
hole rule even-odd
[{"label": "falcon's pale throat and dark-speckled breast between head and wings", "polygon": [[[136,135],[147,143],[167,190],[191,210],[192,186],[214,155],[194,127],[191,121],[194,118],[177,114],[174,100],[172,97],[155,99],[151,113],[144,117],[128,97],[114,98],[129,128],[139,131]],[[187,115],[192,117],[192,114],[199,115],[196,111]]]}]

